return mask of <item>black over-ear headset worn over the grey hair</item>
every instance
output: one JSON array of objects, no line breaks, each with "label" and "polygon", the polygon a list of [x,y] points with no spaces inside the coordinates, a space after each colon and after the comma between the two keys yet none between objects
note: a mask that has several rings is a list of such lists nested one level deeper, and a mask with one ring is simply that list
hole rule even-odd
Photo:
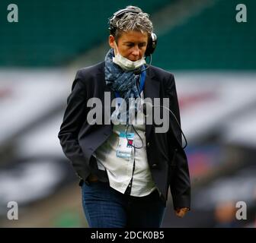
[{"label": "black over-ear headset worn over the grey hair", "polygon": [[[110,30],[110,35],[115,36],[115,33],[117,31],[117,28],[114,27],[113,21],[116,17],[120,18],[123,16],[123,14],[126,13],[136,13],[139,14],[141,11],[136,10],[136,9],[129,9],[129,8],[124,8],[121,9],[117,12],[115,12],[113,14],[113,17],[110,18],[110,27],[108,28]],[[154,51],[155,51],[155,47],[156,47],[156,43],[157,43],[157,36],[155,33],[151,33],[151,35],[149,36],[149,43],[145,52],[146,56],[151,55]]]}]

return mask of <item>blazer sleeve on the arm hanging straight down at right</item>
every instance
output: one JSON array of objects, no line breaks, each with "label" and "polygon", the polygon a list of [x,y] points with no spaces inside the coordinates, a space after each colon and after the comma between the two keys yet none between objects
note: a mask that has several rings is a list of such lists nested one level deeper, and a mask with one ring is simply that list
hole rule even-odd
[{"label": "blazer sleeve on the arm hanging straight down at right", "polygon": [[[178,96],[176,92],[176,85],[174,76],[171,74],[171,77],[168,80],[168,86],[166,87],[170,109],[174,112],[174,115],[178,119],[179,124],[181,125],[180,110],[178,105]],[[169,186],[171,189],[171,196],[175,208],[188,207],[190,208],[190,174],[187,163],[187,156],[184,150],[182,149],[182,140],[181,140],[181,130],[179,129],[177,122],[170,114],[170,129],[168,131],[168,136],[175,136],[178,140],[178,144],[170,143],[171,153],[170,158],[170,169],[169,169]],[[171,131],[173,134],[171,134]],[[174,141],[169,137],[169,141]]]}]

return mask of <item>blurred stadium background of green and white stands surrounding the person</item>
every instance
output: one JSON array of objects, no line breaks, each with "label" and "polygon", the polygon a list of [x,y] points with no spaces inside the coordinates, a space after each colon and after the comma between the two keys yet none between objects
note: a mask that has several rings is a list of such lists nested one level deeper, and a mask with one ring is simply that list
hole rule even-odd
[{"label": "blurred stadium background of green and white stands surrounding the person", "polygon": [[[238,4],[247,22],[236,21]],[[1,0],[0,226],[88,226],[57,134],[76,71],[104,59],[107,19],[127,5],[150,14],[152,65],[174,74],[188,140],[192,210],[176,218],[169,195],[163,227],[255,227],[254,0]],[[9,201],[18,220],[7,218]],[[238,201],[247,219],[235,218]]]}]

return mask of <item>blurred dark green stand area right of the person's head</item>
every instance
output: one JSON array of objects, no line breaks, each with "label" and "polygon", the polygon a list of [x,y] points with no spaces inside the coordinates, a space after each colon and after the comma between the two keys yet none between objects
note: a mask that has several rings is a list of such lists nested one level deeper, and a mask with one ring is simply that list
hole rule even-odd
[{"label": "blurred dark green stand area right of the person's head", "polygon": [[[235,21],[239,3],[246,4],[246,23]],[[216,1],[159,36],[154,64],[168,70],[255,69],[255,9],[255,1]]]}]

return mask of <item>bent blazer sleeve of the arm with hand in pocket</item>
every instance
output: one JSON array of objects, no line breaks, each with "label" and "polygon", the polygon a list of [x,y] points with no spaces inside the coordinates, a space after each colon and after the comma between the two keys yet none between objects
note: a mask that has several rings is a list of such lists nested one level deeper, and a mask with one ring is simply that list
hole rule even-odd
[{"label": "bent blazer sleeve of the arm with hand in pocket", "polygon": [[85,122],[86,88],[82,83],[82,71],[78,71],[72,84],[72,92],[67,99],[62,125],[58,134],[63,153],[71,160],[79,178],[87,178],[85,171],[89,166],[85,162],[82,148],[78,144],[78,132]]}]

